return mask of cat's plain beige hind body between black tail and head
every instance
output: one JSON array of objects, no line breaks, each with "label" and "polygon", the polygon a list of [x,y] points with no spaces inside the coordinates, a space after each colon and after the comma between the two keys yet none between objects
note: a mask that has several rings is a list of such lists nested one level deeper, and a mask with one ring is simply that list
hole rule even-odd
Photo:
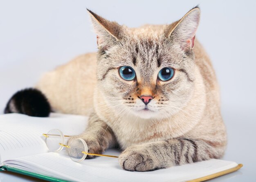
[{"label": "cat's plain beige hind body between black tail and head", "polygon": [[96,57],[96,53],[81,55],[40,79],[36,88],[47,96],[55,112],[90,114],[97,82]]}]

